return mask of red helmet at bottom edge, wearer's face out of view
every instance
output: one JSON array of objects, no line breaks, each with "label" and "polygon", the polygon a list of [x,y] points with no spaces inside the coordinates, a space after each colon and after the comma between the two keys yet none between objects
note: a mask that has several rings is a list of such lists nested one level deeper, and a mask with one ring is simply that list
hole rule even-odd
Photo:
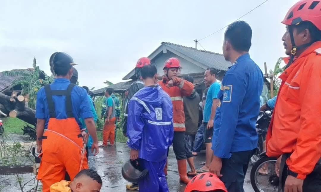
[{"label": "red helmet at bottom edge, wearer's face out of view", "polygon": [[188,182],[185,192],[209,192],[216,190],[227,192],[224,183],[215,174],[201,173]]}]

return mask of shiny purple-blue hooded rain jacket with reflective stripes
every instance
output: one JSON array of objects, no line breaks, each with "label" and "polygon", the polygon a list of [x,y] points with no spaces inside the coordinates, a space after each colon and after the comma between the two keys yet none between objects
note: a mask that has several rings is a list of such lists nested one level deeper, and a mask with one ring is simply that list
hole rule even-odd
[{"label": "shiny purple-blue hooded rain jacket with reflective stripes", "polygon": [[173,104],[160,86],[144,87],[130,99],[127,136],[139,158],[152,162],[167,158],[174,136]]}]

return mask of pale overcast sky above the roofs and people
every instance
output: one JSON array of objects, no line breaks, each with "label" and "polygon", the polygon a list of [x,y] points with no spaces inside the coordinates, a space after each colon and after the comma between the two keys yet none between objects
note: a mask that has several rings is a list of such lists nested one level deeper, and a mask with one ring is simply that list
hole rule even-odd
[{"label": "pale overcast sky above the roofs and people", "polygon": [[[37,58],[47,74],[49,57],[64,51],[74,58],[80,85],[117,83],[160,42],[195,47],[265,0],[55,0],[0,4],[0,71],[32,67]],[[246,2],[246,4],[244,3]],[[280,22],[297,0],[269,0],[242,20],[253,30],[250,55],[264,71],[283,57]],[[222,53],[224,30],[200,41],[206,50]],[[201,47],[198,45],[198,48]],[[162,73],[162,72],[159,72]]]}]

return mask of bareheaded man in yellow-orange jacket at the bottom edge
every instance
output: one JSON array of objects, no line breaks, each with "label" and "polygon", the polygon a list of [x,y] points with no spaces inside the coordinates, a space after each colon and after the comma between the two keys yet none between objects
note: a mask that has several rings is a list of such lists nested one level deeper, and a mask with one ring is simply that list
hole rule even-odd
[{"label": "bareheaded man in yellow-orange jacket at the bottom edge", "polygon": [[101,177],[92,169],[80,171],[73,181],[62,180],[50,186],[50,192],[99,192]]}]

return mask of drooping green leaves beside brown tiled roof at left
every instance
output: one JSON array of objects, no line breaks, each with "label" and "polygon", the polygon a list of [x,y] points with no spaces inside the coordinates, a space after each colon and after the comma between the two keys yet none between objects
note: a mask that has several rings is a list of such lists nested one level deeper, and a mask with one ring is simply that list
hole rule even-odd
[{"label": "drooping green leaves beside brown tiled roof at left", "polygon": [[[5,71],[4,75],[7,76],[20,76],[17,80],[13,81],[11,88],[16,85],[21,85],[22,95],[29,98],[28,105],[30,108],[35,109],[37,92],[43,86],[50,84],[53,81],[53,76],[46,75],[43,71],[39,69],[38,66],[34,64],[33,72],[23,72],[21,70],[17,71]],[[43,78],[40,78],[43,77]]]}]

